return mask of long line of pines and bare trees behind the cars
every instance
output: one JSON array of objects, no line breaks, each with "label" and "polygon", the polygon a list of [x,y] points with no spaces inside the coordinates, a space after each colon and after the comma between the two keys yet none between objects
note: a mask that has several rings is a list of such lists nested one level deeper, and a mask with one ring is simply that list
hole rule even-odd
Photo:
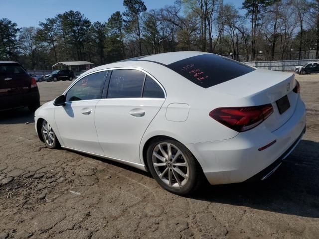
[{"label": "long line of pines and bare trees behind the cars", "polygon": [[319,0],[244,0],[241,11],[223,0],[176,0],[151,10],[143,0],[123,5],[105,22],[73,10],[21,28],[2,18],[0,60],[44,70],[58,61],[102,65],[190,50],[240,61],[305,59],[310,51],[319,58]]}]

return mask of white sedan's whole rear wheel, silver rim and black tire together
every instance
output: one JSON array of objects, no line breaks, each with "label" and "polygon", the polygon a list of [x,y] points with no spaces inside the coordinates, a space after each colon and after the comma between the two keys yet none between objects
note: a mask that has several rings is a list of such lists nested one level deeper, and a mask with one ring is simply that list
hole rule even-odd
[{"label": "white sedan's whole rear wheel, silver rim and black tire together", "polygon": [[150,171],[167,191],[186,195],[202,182],[202,171],[192,153],[180,142],[164,139],[152,143],[147,152]]}]

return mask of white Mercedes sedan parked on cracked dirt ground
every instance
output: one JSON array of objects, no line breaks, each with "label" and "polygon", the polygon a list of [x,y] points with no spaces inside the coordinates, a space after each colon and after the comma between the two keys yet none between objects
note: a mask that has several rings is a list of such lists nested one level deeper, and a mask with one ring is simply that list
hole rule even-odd
[{"label": "white Mercedes sedan parked on cracked dirt ground", "polygon": [[149,171],[185,195],[208,180],[269,177],[301,140],[305,105],[292,73],[205,52],[172,52],[93,68],[35,112],[61,146]]}]

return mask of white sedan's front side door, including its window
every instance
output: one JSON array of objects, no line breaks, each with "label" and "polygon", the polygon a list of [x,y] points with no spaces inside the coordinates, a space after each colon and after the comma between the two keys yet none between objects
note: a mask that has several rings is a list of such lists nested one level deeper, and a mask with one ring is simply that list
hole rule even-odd
[{"label": "white sedan's front side door, including its window", "polygon": [[94,125],[107,71],[81,78],[66,93],[65,106],[55,109],[55,122],[65,147],[104,155]]}]

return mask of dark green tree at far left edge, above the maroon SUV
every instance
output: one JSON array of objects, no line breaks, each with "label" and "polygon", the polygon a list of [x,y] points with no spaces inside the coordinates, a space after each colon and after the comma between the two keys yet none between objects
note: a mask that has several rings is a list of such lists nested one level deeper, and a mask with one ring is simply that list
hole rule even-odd
[{"label": "dark green tree at far left edge, above the maroon SUV", "polygon": [[7,18],[0,19],[0,59],[14,60],[17,55],[16,37],[20,28]]}]

